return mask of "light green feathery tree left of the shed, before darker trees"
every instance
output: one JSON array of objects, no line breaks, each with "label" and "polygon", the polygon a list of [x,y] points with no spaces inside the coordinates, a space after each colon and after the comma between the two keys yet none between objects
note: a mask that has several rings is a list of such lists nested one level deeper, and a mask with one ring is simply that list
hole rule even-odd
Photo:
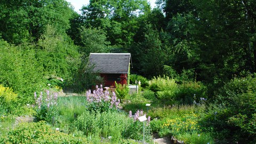
[{"label": "light green feathery tree left of the shed, before darker trees", "polygon": [[44,67],[44,77],[47,79],[61,77],[68,85],[80,62],[77,46],[50,25],[39,39],[38,46],[36,57],[39,65]]}]

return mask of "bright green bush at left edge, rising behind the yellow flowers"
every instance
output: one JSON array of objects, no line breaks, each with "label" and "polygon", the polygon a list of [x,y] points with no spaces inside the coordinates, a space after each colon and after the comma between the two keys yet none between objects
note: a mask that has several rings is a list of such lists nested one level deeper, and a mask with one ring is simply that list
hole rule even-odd
[{"label": "bright green bush at left edge, rising behind the yellow flowers", "polygon": [[33,45],[12,46],[0,40],[0,83],[18,93],[21,105],[33,103],[33,93],[43,89],[43,67],[38,65]]}]

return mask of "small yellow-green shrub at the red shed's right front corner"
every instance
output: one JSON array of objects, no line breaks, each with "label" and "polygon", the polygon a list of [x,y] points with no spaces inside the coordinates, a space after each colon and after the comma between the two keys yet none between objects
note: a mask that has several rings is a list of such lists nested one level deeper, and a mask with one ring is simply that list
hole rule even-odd
[{"label": "small yellow-green shrub at the red shed's right front corner", "polygon": [[128,87],[127,85],[125,85],[125,84],[122,85],[122,84],[117,84],[117,83],[115,82],[115,85],[116,85],[116,88],[115,88],[116,96],[117,96],[117,98],[120,99],[121,102],[122,102],[123,100],[125,100],[125,98],[127,97],[127,95],[129,95],[130,89],[129,89],[129,87]]}]

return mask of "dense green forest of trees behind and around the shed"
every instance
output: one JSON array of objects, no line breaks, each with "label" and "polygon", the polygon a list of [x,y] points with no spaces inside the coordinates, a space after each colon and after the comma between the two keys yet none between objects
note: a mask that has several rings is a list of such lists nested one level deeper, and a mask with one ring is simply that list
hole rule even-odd
[{"label": "dense green forest of trees behind and around the shed", "polygon": [[256,71],[255,1],[156,4],[91,0],[78,14],[65,0],[1,1],[0,83],[25,100],[56,78],[83,89],[90,52],[129,52],[131,71],[201,81],[209,93]]}]

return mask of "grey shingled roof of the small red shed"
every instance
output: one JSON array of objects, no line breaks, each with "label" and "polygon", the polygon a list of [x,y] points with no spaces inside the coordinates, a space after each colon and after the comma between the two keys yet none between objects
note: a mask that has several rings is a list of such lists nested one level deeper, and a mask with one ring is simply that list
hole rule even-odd
[{"label": "grey shingled roof of the small red shed", "polygon": [[101,74],[127,74],[130,53],[91,53],[89,65],[95,65],[93,71]]}]

